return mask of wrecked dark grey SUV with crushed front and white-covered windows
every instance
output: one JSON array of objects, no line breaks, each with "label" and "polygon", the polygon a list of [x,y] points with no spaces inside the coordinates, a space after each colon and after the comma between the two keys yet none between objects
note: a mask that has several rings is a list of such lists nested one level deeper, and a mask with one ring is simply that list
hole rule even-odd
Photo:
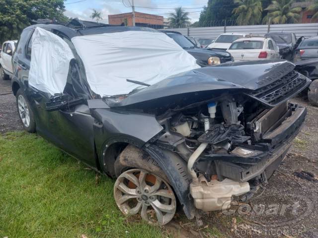
[{"label": "wrecked dark grey SUV with crushed front and white-covered windows", "polygon": [[126,215],[155,225],[243,201],[273,174],[310,80],[284,61],[200,67],[163,33],[37,24],[21,34],[12,90],[24,128],[117,178]]}]

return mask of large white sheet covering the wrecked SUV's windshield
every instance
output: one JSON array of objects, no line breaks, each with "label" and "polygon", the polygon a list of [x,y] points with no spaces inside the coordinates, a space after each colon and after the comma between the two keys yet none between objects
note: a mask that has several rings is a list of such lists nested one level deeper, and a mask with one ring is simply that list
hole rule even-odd
[{"label": "large white sheet covering the wrecked SUV's windshield", "polygon": [[101,96],[128,94],[139,85],[199,68],[194,57],[163,33],[125,31],[72,38],[88,84]]}]

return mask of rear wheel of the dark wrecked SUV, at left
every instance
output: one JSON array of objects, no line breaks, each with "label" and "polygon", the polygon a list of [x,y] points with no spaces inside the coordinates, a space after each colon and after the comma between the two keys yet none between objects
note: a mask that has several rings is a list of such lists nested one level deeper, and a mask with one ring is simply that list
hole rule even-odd
[{"label": "rear wheel of the dark wrecked SUV, at left", "polygon": [[28,132],[35,132],[35,120],[31,110],[30,104],[24,95],[23,91],[19,89],[16,92],[16,107],[19,114],[19,118],[22,122],[23,128]]}]

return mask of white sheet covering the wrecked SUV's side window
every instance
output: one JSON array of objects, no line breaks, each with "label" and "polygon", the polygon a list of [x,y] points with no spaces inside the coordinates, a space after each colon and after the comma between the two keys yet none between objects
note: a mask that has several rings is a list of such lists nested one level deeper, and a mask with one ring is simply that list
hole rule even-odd
[{"label": "white sheet covering the wrecked SUV's side window", "polygon": [[63,39],[37,27],[32,35],[29,85],[51,95],[62,93],[73,58],[72,50]]}]

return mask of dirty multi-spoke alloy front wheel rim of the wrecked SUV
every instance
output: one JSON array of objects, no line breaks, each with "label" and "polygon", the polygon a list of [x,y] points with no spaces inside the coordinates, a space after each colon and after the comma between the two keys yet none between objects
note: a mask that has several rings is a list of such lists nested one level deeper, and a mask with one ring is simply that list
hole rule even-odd
[{"label": "dirty multi-spoke alloy front wheel rim of the wrecked SUV", "polygon": [[116,204],[124,215],[140,213],[151,225],[163,226],[175,214],[176,199],[170,185],[145,170],[132,169],[121,174],[114,185]]}]

